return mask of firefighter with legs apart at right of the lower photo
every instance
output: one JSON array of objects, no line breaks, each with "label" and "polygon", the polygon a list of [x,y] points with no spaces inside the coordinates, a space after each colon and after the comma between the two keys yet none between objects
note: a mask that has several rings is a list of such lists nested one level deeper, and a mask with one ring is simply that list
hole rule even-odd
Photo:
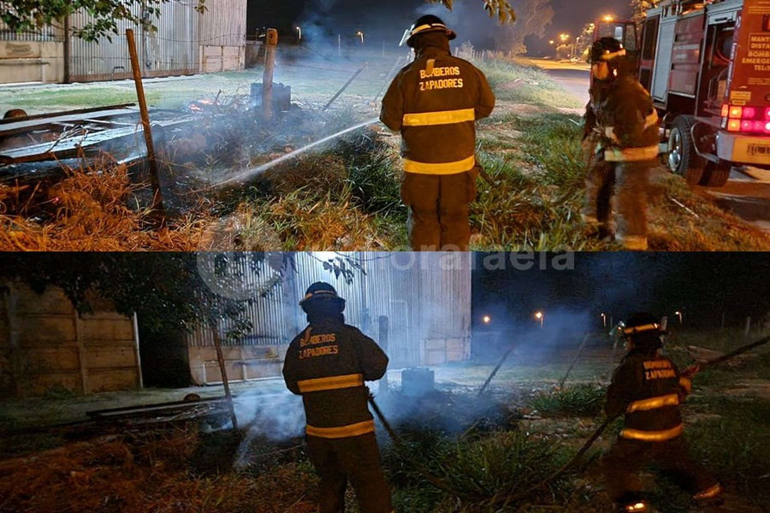
[{"label": "firefighter with legs apart at right of the lower photo", "polygon": [[634,314],[623,328],[628,355],[614,372],[604,411],[625,415],[618,441],[604,457],[607,491],[618,511],[651,511],[635,473],[656,464],[669,471],[705,507],[718,501],[721,486],[692,461],[681,434],[680,402],[692,388],[674,363],[661,355],[665,331],[653,315]]}]

